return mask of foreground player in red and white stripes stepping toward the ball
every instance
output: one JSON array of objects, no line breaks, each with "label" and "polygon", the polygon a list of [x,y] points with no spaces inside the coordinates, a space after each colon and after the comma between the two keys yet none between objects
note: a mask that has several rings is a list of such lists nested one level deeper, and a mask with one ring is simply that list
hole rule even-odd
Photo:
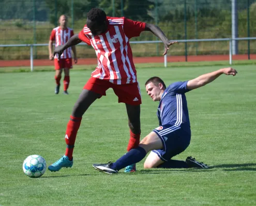
[{"label": "foreground player in red and white stripes stepping toward the ball", "polygon": [[[106,16],[101,9],[93,8],[88,12],[87,24],[79,35],[74,35],[66,44],[55,48],[54,54],[61,55],[68,47],[83,41],[95,49],[99,63],[92,73],[92,77],[84,85],[67,124],[66,153],[61,159],[50,165],[49,170],[58,171],[62,167],[73,165],[74,142],[82,116],[97,98],[106,95],[109,88],[112,88],[118,96],[118,102],[126,104],[130,128],[127,151],[138,147],[141,134],[141,95],[129,39],[140,36],[142,31],[151,31],[162,40],[165,46],[163,55],[167,53],[170,45],[176,43],[170,42],[162,30],[155,25],[132,21],[124,17],[112,18]],[[133,164],[126,167],[125,171],[135,170],[135,164]]]}]

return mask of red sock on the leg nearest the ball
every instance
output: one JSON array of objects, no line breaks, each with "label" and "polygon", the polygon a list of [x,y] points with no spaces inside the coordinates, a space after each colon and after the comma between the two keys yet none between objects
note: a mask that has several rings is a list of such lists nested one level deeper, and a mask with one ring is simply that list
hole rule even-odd
[{"label": "red sock on the leg nearest the ball", "polygon": [[69,160],[72,160],[74,142],[76,141],[77,132],[80,127],[81,121],[82,121],[82,117],[70,116],[70,119],[67,125],[67,130],[65,135],[67,148],[66,148],[65,156],[68,156]]}]

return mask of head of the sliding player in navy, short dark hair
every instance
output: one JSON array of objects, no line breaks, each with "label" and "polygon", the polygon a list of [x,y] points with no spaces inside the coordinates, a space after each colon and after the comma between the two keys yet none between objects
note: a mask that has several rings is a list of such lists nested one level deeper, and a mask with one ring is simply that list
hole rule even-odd
[{"label": "head of the sliding player in navy, short dark hair", "polygon": [[145,87],[147,95],[149,95],[153,101],[160,101],[161,95],[166,89],[163,80],[159,77],[149,78],[145,83]]}]

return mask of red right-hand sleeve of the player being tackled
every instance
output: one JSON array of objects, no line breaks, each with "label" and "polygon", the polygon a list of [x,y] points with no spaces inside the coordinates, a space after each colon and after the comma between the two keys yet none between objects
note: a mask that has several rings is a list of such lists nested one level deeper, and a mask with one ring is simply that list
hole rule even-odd
[{"label": "red right-hand sleeve of the player being tackled", "polygon": [[124,18],[124,32],[129,39],[139,37],[141,32],[145,30],[145,26],[145,22],[137,22]]}]

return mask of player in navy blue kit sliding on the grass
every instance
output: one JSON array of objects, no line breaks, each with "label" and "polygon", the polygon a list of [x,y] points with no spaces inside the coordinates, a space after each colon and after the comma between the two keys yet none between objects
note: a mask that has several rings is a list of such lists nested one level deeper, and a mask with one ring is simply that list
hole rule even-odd
[{"label": "player in navy blue kit sliding on the grass", "polygon": [[145,136],[137,148],[131,149],[116,162],[94,164],[93,167],[104,173],[115,174],[128,165],[140,162],[147,152],[152,151],[144,163],[145,168],[208,168],[192,157],[186,161],[171,158],[183,152],[190,144],[191,131],[185,93],[203,87],[221,74],[235,76],[237,71],[231,67],[221,68],[189,81],[174,82],[169,87],[165,87],[159,77],[148,79],[145,83],[147,94],[153,101],[160,101],[157,111],[159,127]]}]

